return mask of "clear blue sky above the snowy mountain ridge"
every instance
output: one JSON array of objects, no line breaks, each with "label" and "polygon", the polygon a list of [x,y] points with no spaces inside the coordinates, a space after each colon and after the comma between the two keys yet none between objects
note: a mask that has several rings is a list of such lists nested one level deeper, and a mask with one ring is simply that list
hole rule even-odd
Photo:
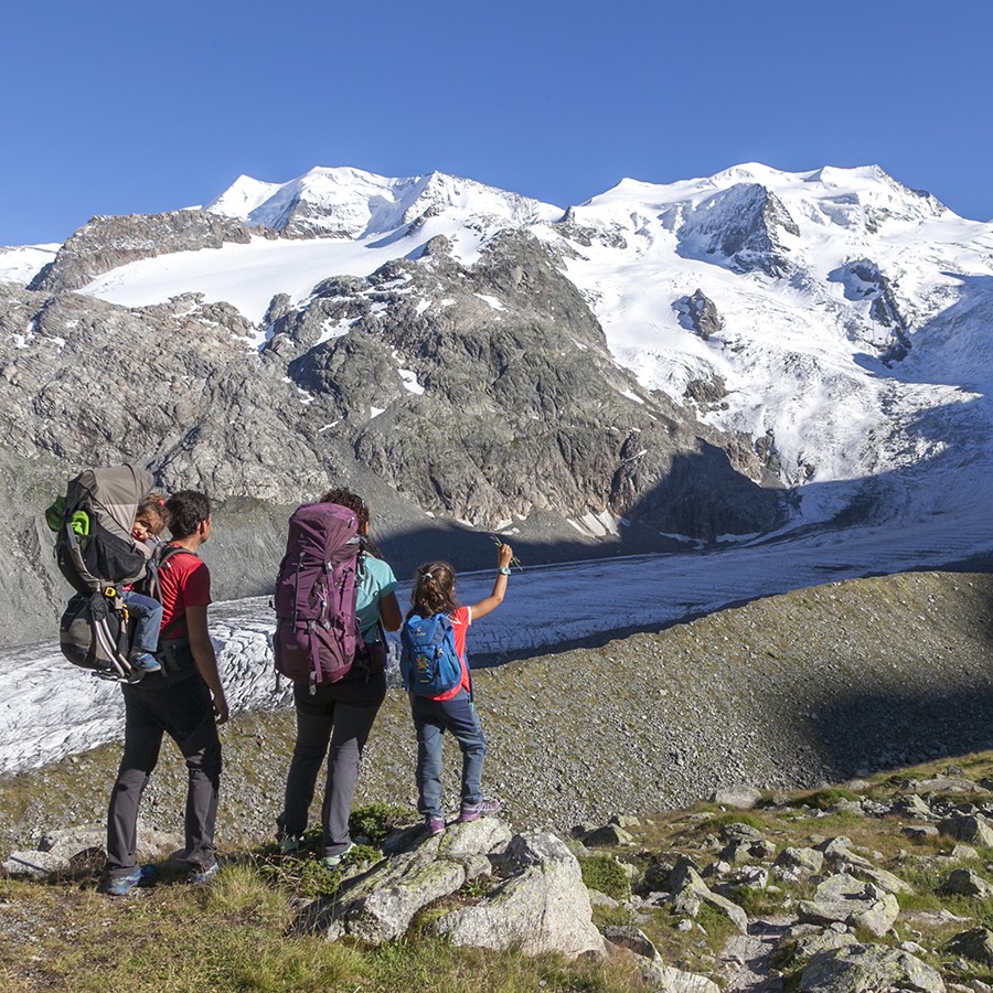
[{"label": "clear blue sky above the snowy mountain ridge", "polygon": [[0,245],[313,166],[567,206],[877,163],[993,218],[989,0],[20,0],[4,34]]}]

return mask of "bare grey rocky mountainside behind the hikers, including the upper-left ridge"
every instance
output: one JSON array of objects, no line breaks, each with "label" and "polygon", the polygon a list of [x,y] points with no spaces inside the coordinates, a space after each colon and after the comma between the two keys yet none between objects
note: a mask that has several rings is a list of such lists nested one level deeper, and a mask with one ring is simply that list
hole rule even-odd
[{"label": "bare grey rocky mountainside behind the hikers, including the upper-left ridge", "polygon": [[199,211],[97,218],[39,289],[0,286],[0,490],[17,508],[0,545],[29,556],[0,578],[0,615],[25,615],[26,594],[57,616],[64,587],[36,515],[87,465],[135,461],[169,489],[249,501],[227,531],[225,597],[267,591],[256,565],[271,576],[285,508],[332,480],[387,508],[397,531],[423,528],[425,512],[485,528],[623,517],[704,541],[786,521],[775,450],[642,389],[520,231],[469,268],[438,237],[417,261],[325,280],[300,307],[277,296],[261,346],[260,328],[197,295],[127,309],[66,291],[135,258],[248,237]]}]

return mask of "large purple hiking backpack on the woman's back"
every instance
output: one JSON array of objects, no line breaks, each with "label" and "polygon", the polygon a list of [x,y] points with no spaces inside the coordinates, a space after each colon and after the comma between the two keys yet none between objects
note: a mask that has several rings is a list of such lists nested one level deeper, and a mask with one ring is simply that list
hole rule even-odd
[{"label": "large purple hiking backpack on the woman's back", "polygon": [[314,693],[344,679],[361,644],[355,618],[362,537],[354,511],[305,503],[289,521],[276,579],[276,671]]}]

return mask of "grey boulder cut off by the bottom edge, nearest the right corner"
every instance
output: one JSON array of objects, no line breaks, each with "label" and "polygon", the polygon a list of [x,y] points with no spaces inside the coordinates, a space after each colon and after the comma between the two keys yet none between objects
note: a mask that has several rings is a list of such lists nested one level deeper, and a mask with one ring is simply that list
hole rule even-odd
[{"label": "grey boulder cut off by the bottom edge, nearest the right corner", "polygon": [[811,959],[800,976],[802,993],[879,993],[907,990],[944,993],[940,973],[895,948],[852,946]]}]

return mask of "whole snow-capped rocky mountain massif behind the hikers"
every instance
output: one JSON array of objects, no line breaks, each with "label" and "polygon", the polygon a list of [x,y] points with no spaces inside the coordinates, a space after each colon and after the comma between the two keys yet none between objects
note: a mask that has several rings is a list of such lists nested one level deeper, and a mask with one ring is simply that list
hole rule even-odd
[{"label": "whole snow-capped rocky mountain massif behind the hikers", "polygon": [[[241,177],[0,253],[0,482],[131,459],[278,530],[344,481],[396,535],[558,557],[949,515],[985,549],[991,242],[877,167],[566,210],[438,172]],[[0,541],[38,545],[35,511]]]}]

